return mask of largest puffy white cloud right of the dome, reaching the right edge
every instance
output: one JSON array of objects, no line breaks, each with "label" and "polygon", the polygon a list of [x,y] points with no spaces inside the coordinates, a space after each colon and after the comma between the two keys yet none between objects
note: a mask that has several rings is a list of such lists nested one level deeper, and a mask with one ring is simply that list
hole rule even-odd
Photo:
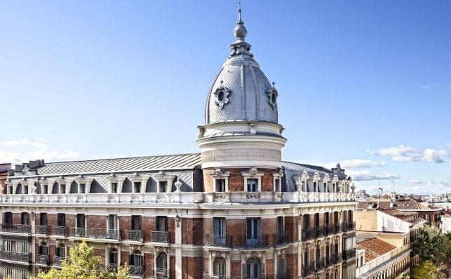
[{"label": "largest puffy white cloud right of the dome, reaching the right edge", "polygon": [[390,148],[368,150],[372,155],[390,157],[393,162],[434,162],[436,164],[451,162],[451,154],[444,149],[426,148],[421,151],[409,145],[398,145]]}]

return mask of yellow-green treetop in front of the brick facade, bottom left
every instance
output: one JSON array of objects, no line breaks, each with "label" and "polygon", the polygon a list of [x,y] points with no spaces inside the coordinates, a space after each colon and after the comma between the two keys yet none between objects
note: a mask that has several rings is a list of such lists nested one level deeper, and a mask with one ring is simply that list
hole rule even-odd
[{"label": "yellow-green treetop in front of the brick facade, bottom left", "polygon": [[109,271],[100,268],[100,257],[95,256],[94,249],[83,240],[69,250],[69,257],[62,263],[62,268],[52,268],[47,273],[41,272],[36,279],[129,279],[128,266]]}]

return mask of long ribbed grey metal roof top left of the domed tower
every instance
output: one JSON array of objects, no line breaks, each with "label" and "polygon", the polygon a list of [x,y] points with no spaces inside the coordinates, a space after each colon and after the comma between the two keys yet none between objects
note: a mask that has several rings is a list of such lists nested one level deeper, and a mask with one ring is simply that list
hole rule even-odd
[{"label": "long ribbed grey metal roof top left of the domed tower", "polygon": [[114,158],[72,162],[46,162],[37,169],[39,175],[100,174],[120,171],[157,171],[161,169],[200,169],[199,153],[149,157]]}]

